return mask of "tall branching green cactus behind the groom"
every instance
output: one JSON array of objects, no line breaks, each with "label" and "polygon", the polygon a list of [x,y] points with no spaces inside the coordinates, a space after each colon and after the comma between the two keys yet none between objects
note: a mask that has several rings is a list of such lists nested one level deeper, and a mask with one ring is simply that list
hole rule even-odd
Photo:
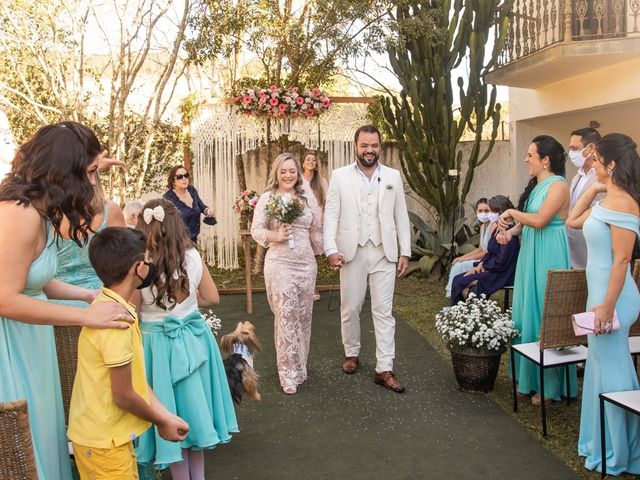
[{"label": "tall branching green cactus behind the groom", "polygon": [[[498,136],[500,104],[496,87],[489,89],[484,76],[495,66],[504,46],[513,3],[403,0],[396,4],[398,41],[389,43],[388,54],[402,89],[399,96],[381,98],[382,111],[400,147],[409,186],[439,217],[441,244],[450,241],[451,229],[461,224],[459,206],[466,200],[475,168],[488,158]],[[425,14],[432,19],[434,30],[416,28],[415,20]],[[457,78],[460,106],[454,115],[452,71],[465,58],[468,78]],[[484,147],[482,130],[489,121],[493,129]],[[474,132],[466,156],[458,146],[465,130]],[[459,186],[449,179],[449,170],[464,171]],[[446,250],[432,252],[436,258],[430,265],[443,265]]]}]

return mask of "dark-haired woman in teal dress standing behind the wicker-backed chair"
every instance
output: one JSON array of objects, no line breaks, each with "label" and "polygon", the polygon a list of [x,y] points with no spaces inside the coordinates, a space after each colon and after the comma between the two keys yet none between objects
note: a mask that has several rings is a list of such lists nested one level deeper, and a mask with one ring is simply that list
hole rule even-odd
[{"label": "dark-haired woman in teal dress standing behind the wicker-backed chair", "polygon": [[[565,218],[569,212],[569,186],[564,179],[566,154],[553,137],[540,135],[533,139],[525,162],[531,180],[518,202],[518,209],[509,209],[500,216],[505,229],[513,220],[516,225],[502,234],[501,241],[521,234],[520,254],[513,289],[513,320],[520,336],[514,343],[539,339],[540,321],[547,271],[569,268],[569,246]],[[500,238],[498,239],[500,241]],[[519,357],[519,356],[518,356]],[[533,362],[516,358],[518,392],[534,394],[531,403],[540,405],[540,373]],[[570,368],[571,396],[578,394],[575,367]],[[564,369],[548,368],[544,372],[545,400],[560,400],[565,391]]]}]

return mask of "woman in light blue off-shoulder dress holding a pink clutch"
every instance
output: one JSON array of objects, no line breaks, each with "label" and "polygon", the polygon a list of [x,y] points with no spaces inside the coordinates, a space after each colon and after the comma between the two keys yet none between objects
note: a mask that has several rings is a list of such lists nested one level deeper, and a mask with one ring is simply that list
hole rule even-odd
[{"label": "woman in light blue off-shoulder dress holding a pink clutch", "polygon": [[[596,331],[588,336],[578,454],[585,467],[602,471],[600,393],[638,390],[638,376],[629,351],[629,328],[640,312],[640,293],[629,260],[640,236],[640,157],[631,138],[605,135],[596,147],[598,182],[571,211],[567,224],[583,228],[587,242],[587,308],[596,313]],[[589,208],[596,195],[606,197]],[[620,329],[611,331],[616,311]],[[640,474],[640,418],[605,407],[607,473]]]}]

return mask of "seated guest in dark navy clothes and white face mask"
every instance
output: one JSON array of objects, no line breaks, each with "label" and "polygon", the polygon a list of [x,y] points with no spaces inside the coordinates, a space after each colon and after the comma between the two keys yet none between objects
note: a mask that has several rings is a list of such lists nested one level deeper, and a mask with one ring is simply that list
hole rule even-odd
[{"label": "seated guest in dark navy clothes and white face mask", "polygon": [[511,201],[504,195],[496,195],[489,200],[489,241],[487,253],[482,260],[466,273],[456,275],[451,287],[451,304],[455,305],[460,300],[467,298],[470,292],[476,295],[483,293],[490,296],[495,291],[506,285],[513,285],[516,273],[516,262],[520,251],[520,240],[512,237],[505,244],[496,240],[498,228],[496,221],[500,214],[509,208],[513,208]]}]

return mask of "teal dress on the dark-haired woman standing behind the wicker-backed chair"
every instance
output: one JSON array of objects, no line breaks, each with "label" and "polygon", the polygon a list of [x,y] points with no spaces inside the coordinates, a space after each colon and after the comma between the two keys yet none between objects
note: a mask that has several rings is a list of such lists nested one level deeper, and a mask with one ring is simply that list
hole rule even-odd
[{"label": "teal dress on the dark-haired woman standing behind the wicker-backed chair", "polygon": [[[526,213],[537,213],[547,198],[549,187],[555,182],[566,182],[553,175],[544,179],[531,191],[525,204]],[[569,243],[565,222],[558,215],[543,228],[523,226],[520,254],[513,288],[513,321],[520,331],[514,344],[537,342],[540,339],[540,320],[547,286],[547,271],[568,269]],[[575,367],[569,369],[571,396],[578,394]],[[544,373],[544,396],[560,400],[566,396],[564,367],[548,368]],[[540,392],[540,372],[535,363],[516,355],[518,391],[525,395]]]}]

